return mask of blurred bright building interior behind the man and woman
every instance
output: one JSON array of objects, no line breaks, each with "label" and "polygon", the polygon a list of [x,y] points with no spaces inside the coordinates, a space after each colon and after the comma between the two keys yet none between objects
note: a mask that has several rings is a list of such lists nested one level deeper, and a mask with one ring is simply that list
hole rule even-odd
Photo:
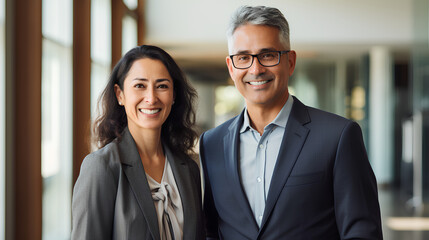
[{"label": "blurred bright building interior behind the man and woman", "polygon": [[200,133],[238,114],[225,32],[244,4],[288,19],[290,92],[362,127],[385,239],[429,239],[428,0],[0,0],[0,240],[70,239],[97,98],[130,48],[177,60]]}]

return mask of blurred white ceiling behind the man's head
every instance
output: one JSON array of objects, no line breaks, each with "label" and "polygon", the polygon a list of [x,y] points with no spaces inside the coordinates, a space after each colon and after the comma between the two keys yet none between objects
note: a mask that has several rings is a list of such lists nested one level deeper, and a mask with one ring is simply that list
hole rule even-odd
[{"label": "blurred white ceiling behind the man's head", "polygon": [[279,8],[298,56],[409,49],[413,0],[146,0],[147,42],[179,58],[227,55],[225,31],[240,5]]}]

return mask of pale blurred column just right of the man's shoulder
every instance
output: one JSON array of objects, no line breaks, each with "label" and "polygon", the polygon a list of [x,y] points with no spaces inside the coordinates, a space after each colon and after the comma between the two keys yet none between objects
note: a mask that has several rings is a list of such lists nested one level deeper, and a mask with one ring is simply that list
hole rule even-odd
[{"label": "pale blurred column just right of the man's shoulder", "polygon": [[392,76],[389,49],[372,48],[369,79],[369,159],[378,183],[389,183],[393,178]]}]

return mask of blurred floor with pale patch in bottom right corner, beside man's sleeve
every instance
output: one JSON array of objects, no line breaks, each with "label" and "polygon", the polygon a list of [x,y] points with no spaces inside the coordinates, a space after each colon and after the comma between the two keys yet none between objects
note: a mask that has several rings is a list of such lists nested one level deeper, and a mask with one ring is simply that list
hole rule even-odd
[{"label": "blurred floor with pale patch in bottom right corner, beside man's sleeve", "polygon": [[429,206],[418,213],[407,204],[408,199],[397,190],[379,188],[385,240],[429,240]]}]

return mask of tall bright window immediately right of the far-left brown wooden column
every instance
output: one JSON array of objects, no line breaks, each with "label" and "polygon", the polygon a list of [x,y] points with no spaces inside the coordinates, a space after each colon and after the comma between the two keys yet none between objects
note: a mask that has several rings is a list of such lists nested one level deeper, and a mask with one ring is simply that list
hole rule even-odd
[{"label": "tall bright window immediately right of the far-left brown wooden column", "polygon": [[42,239],[69,239],[72,194],[72,0],[43,0]]}]

